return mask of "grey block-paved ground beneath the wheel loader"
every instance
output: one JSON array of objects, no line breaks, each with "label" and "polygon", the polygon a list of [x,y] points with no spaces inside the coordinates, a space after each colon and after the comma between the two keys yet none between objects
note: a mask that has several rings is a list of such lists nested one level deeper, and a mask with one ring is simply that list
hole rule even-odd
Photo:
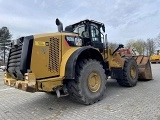
[{"label": "grey block-paved ground beneath the wheel loader", "polygon": [[160,120],[160,64],[152,72],[154,80],[131,88],[109,79],[103,99],[89,106],[6,86],[0,72],[0,120]]}]

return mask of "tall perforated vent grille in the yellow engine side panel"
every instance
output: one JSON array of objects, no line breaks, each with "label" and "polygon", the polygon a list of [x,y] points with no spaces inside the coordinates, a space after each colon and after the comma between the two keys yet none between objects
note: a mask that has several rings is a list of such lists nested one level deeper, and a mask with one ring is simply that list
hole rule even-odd
[{"label": "tall perforated vent grille in the yellow engine side panel", "polygon": [[59,39],[50,38],[48,70],[54,74],[59,73]]}]

